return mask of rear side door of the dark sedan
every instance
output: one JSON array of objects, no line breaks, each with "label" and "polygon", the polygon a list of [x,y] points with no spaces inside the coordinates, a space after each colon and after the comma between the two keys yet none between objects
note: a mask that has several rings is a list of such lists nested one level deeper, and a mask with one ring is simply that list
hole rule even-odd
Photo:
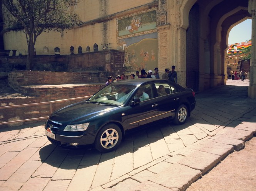
[{"label": "rear side door of the dark sedan", "polygon": [[157,104],[159,106],[158,119],[174,117],[179,106],[179,90],[168,82],[155,82],[157,89]]}]

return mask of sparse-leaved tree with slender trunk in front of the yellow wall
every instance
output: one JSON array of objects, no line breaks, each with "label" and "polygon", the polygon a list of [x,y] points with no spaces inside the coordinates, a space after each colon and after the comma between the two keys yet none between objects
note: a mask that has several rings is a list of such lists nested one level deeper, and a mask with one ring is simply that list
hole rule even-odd
[{"label": "sparse-leaved tree with slender trunk in front of the yellow wall", "polygon": [[75,0],[2,0],[2,3],[5,28],[1,33],[22,30],[26,34],[27,70],[33,69],[35,42],[42,32],[64,31],[82,24],[70,8]]}]

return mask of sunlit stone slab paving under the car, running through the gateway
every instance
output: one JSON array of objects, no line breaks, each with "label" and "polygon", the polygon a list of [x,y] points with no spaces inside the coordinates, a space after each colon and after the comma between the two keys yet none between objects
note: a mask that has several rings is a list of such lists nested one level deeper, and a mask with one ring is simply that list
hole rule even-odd
[{"label": "sunlit stone slab paving under the car, running through the gateway", "polygon": [[256,133],[249,82],[196,94],[184,125],[159,123],[110,153],[51,144],[43,124],[0,129],[0,190],[186,190]]}]

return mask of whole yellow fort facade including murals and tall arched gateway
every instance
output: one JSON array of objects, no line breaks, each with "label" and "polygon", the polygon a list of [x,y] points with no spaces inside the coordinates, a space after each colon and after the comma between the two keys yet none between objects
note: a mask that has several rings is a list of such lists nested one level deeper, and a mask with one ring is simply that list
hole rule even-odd
[{"label": "whole yellow fort facade including murals and tall arched gateway", "polygon": [[[58,46],[62,54],[69,54],[71,45],[93,47],[97,43],[102,50],[108,44],[109,49],[124,51],[127,71],[157,67],[161,73],[175,65],[178,83],[197,92],[226,84],[229,31],[250,18],[248,96],[256,99],[255,0],[80,0],[71,10],[80,15],[82,27],[40,35],[37,50]],[[3,39],[5,49],[27,49],[20,32],[5,33]]]}]

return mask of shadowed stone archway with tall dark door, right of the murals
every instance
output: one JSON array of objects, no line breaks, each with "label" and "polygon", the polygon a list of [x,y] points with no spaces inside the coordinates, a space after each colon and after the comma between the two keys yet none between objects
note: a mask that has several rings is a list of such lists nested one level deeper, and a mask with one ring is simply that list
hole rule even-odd
[{"label": "shadowed stone archway with tall dark door, right of the murals", "polygon": [[[232,25],[250,18],[248,7],[255,7],[255,4],[253,0],[234,0],[232,3],[229,0],[211,0],[207,3],[197,0],[183,1],[183,5],[178,7],[181,27],[177,32],[177,46],[180,47],[177,61],[187,87],[202,91],[226,84],[228,33]],[[253,15],[255,8],[252,10]],[[182,39],[184,31],[185,40]],[[186,68],[186,74],[182,73],[182,68]]]}]

